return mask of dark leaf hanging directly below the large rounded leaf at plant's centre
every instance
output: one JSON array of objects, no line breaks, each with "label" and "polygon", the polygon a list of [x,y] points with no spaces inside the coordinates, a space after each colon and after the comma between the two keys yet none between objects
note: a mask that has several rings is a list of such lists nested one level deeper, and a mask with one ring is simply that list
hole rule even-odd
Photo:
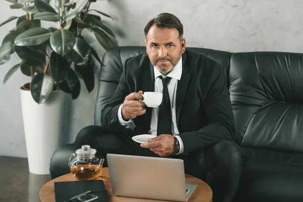
[{"label": "dark leaf hanging directly below the large rounded leaf at plant's centre", "polygon": [[53,79],[56,82],[61,82],[65,80],[68,75],[69,65],[68,61],[61,55],[53,52],[51,55],[50,68]]}]

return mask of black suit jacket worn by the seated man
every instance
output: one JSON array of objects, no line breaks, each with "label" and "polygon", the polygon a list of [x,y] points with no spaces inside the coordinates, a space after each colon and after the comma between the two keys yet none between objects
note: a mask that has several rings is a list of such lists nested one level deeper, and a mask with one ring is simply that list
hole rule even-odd
[{"label": "black suit jacket worn by the seated man", "polygon": [[[232,140],[234,118],[223,68],[212,59],[192,51],[182,55],[182,76],[176,94],[176,120],[184,145],[183,155],[220,141]],[[119,85],[101,115],[102,126],[117,132],[124,130],[118,120],[118,108],[125,97],[139,90],[154,91],[155,76],[147,54],[126,60]],[[128,126],[134,134],[146,134],[150,128],[151,108]]]}]

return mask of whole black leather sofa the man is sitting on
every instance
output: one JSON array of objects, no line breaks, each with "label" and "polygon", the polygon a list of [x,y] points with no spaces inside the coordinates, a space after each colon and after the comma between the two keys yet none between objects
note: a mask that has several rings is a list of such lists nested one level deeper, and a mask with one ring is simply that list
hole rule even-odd
[{"label": "whole black leather sofa the man is sitting on", "polygon": [[[225,70],[234,141],[245,153],[234,201],[303,201],[303,54],[188,49],[216,60]],[[125,60],[143,52],[142,46],[123,46],[104,55],[95,125],[100,125],[100,113],[118,85]],[[68,144],[54,153],[52,178],[70,172],[67,156],[75,149]]]}]

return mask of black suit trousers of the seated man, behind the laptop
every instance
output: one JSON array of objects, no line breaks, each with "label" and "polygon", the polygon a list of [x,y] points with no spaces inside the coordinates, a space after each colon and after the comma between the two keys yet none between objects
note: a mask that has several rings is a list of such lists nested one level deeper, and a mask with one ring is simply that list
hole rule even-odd
[{"label": "black suit trousers of the seated man, behind the laptop", "polygon": [[[102,126],[87,126],[78,133],[75,145],[77,148],[81,148],[82,145],[88,144],[95,148],[97,150],[96,157],[105,159],[105,167],[107,167],[106,155],[109,153],[160,157],[133,141],[131,137],[134,134],[122,133],[109,132]],[[184,161],[186,174],[208,183],[213,190],[214,202],[232,201],[242,170],[241,149],[237,144],[223,140],[204,150],[174,158],[180,158]]]}]

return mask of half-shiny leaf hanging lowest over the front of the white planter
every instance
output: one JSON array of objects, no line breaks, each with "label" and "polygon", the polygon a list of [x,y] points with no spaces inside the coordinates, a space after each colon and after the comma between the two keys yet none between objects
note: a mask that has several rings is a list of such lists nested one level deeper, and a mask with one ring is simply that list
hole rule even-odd
[{"label": "half-shiny leaf hanging lowest over the front of the white planter", "polygon": [[46,73],[36,74],[30,83],[31,95],[38,104],[44,103],[53,89],[53,78]]}]

